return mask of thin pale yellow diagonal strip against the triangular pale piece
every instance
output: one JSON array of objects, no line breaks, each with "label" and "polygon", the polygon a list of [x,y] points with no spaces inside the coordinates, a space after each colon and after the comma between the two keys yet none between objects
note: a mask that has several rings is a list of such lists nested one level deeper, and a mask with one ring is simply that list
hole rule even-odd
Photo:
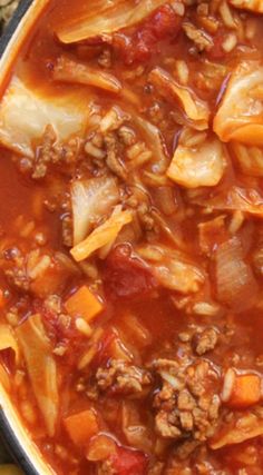
[{"label": "thin pale yellow diagonal strip against the triangular pale piece", "polygon": [[120,229],[133,220],[133,214],[128,210],[113,212],[110,218],[96,228],[85,240],[76,245],[71,250],[75,260],[87,259],[95,250],[115,240]]}]

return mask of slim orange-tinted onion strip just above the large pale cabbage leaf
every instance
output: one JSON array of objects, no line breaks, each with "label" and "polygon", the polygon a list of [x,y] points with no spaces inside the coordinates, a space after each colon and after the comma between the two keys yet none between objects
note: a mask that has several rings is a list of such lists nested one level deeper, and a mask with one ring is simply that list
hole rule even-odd
[{"label": "slim orange-tinted onion strip just above the large pale cabbage leaf", "polygon": [[53,68],[53,79],[56,81],[94,86],[109,92],[119,92],[121,89],[118,79],[109,72],[100,71],[65,56],[58,59]]}]

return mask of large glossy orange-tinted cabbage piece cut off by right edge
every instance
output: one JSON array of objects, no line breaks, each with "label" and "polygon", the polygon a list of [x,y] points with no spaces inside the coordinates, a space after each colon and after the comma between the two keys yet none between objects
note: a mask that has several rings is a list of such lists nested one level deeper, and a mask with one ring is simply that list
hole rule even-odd
[{"label": "large glossy orange-tinted cabbage piece cut off by right edge", "polygon": [[263,66],[243,61],[233,72],[214,118],[221,140],[263,145]]}]

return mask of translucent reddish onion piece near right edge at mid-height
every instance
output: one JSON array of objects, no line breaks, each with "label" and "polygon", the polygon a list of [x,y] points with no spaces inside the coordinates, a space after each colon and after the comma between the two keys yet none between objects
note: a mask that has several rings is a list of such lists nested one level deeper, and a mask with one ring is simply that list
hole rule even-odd
[{"label": "translucent reddish onion piece near right edge at mid-height", "polygon": [[253,306],[257,294],[251,266],[244,260],[242,243],[237,237],[221,244],[215,251],[217,299],[236,311]]}]

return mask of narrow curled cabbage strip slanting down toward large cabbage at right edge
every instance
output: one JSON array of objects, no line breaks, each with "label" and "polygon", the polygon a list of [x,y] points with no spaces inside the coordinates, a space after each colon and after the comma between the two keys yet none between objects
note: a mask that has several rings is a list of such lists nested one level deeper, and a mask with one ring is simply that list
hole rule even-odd
[{"label": "narrow curled cabbage strip slanting down toward large cabbage at right edge", "polygon": [[150,71],[148,79],[160,96],[178,103],[194,128],[197,130],[208,128],[208,106],[194,91],[177,83],[173,76],[159,67]]}]

